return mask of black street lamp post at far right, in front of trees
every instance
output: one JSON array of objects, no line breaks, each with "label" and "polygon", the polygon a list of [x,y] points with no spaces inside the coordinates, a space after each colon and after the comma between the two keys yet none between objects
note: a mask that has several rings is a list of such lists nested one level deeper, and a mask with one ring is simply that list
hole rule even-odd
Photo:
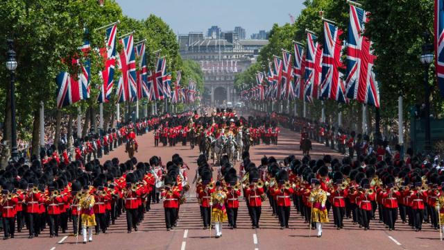
[{"label": "black street lamp post at far right, in front of trees", "polygon": [[428,32],[423,34],[425,44],[422,45],[422,54],[420,60],[424,65],[424,87],[425,87],[425,142],[424,150],[426,153],[432,151],[432,140],[430,139],[430,85],[429,85],[429,67],[433,61],[433,44],[429,44]]}]

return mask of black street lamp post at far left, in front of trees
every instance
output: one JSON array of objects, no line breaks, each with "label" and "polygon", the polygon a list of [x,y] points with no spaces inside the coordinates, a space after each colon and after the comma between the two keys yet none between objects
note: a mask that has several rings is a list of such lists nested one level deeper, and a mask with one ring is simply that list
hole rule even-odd
[{"label": "black street lamp post at far left, in front of trees", "polygon": [[7,52],[6,68],[10,71],[11,76],[11,157],[17,162],[17,131],[15,123],[15,69],[17,69],[17,60],[15,59],[15,51],[12,49],[14,41],[8,39],[9,50]]}]

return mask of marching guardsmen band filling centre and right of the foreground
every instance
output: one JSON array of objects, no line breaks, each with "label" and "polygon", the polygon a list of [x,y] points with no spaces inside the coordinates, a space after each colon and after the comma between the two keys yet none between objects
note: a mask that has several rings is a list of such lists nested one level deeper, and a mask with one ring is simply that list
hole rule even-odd
[{"label": "marching guardsmen band filling centre and right of the foreground", "polygon": [[[345,157],[341,161],[325,156],[321,160],[302,160],[289,156],[282,165],[275,158],[262,158],[261,165],[251,163],[244,153],[241,163],[246,171],[239,179],[230,163],[221,163],[218,182],[225,194],[223,208],[228,213],[230,228],[237,227],[239,197],[246,200],[253,228],[259,227],[263,202],[268,200],[280,228],[289,227],[291,206],[305,219],[309,228],[322,236],[322,224],[329,222],[332,213],[334,226],[341,230],[344,219],[351,219],[364,231],[370,222],[384,224],[392,231],[399,221],[415,231],[427,223],[436,230],[444,222],[444,172],[432,163],[413,157],[411,164],[402,160],[377,161],[368,156],[363,162]],[[210,216],[215,206],[212,194],[218,184],[205,158],[198,159],[196,194],[200,202],[204,229],[211,226]],[[218,221],[213,221],[218,222]],[[225,220],[223,220],[225,222]],[[221,224],[216,225],[221,234]]]}]

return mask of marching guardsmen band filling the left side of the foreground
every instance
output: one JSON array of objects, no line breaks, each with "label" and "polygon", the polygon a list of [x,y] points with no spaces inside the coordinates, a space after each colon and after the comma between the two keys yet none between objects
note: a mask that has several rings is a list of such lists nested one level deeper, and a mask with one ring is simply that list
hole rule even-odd
[{"label": "marching guardsmen band filling the left side of the foreground", "polygon": [[[114,158],[101,165],[92,160],[85,167],[80,161],[65,165],[54,159],[11,164],[0,172],[3,240],[14,238],[16,228],[19,233],[27,228],[29,238],[34,238],[49,227],[51,238],[71,231],[86,243],[92,241],[93,228],[97,235],[106,233],[123,213],[128,233],[137,231],[151,203],[159,203],[164,181],[168,184],[174,176],[176,186],[187,189],[184,166],[178,154],[166,167],[157,156],[149,163],[136,158],[119,163]],[[171,200],[165,197],[164,202]]]}]

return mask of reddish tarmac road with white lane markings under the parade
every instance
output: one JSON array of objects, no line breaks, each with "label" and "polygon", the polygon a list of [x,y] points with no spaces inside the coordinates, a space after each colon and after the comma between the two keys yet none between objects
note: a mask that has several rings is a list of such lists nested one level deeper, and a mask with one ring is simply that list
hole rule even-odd
[{"label": "reddish tarmac road with white lane markings under the parade", "polygon": [[[278,146],[259,145],[250,149],[253,162],[260,164],[262,156],[275,156],[278,160],[293,153],[301,156],[298,151],[300,135],[282,129]],[[139,137],[139,152],[136,158],[147,162],[151,156],[162,157],[163,163],[171,160],[173,153],[179,153],[191,168],[189,179],[192,181],[196,172],[196,158],[198,148],[190,150],[189,147],[158,147],[155,148],[153,133]],[[321,144],[314,144],[311,153],[312,158],[320,158],[325,153],[339,156],[338,153],[327,149]],[[113,157],[121,161],[128,156],[123,147],[112,151],[105,156],[102,162]],[[239,169],[239,164],[236,166]],[[216,171],[215,171],[216,172]],[[357,225],[353,225],[350,219],[345,219],[344,229],[336,231],[330,213],[330,223],[323,226],[323,237],[309,238],[309,228],[296,213],[291,209],[290,228],[280,230],[278,218],[273,217],[268,201],[262,207],[260,228],[251,229],[250,219],[246,210],[245,202],[241,202],[238,216],[238,228],[230,230],[224,224],[223,237],[210,238],[210,231],[203,230],[198,203],[196,202],[194,186],[191,185],[187,203],[180,207],[180,219],[178,227],[173,231],[166,231],[164,225],[164,211],[162,203],[151,205],[151,211],[146,213],[145,219],[139,226],[139,231],[126,233],[126,217],[121,216],[115,225],[110,226],[106,234],[93,235],[93,242],[77,244],[76,238],[60,234],[58,238],[49,238],[49,229],[46,229],[38,238],[29,240],[28,233],[18,233],[15,239],[0,242],[0,249],[438,249],[444,246],[439,240],[439,232],[432,230],[429,224],[423,225],[423,231],[414,232],[407,224],[396,225],[396,231],[388,231],[383,224],[370,222],[370,231],[364,231]],[[399,220],[398,220],[399,222]],[[71,223],[69,224],[71,228]],[[69,231],[71,233],[71,231]],[[214,235],[214,231],[212,231]],[[311,235],[316,232],[311,231]],[[79,237],[81,242],[81,238]]]}]

